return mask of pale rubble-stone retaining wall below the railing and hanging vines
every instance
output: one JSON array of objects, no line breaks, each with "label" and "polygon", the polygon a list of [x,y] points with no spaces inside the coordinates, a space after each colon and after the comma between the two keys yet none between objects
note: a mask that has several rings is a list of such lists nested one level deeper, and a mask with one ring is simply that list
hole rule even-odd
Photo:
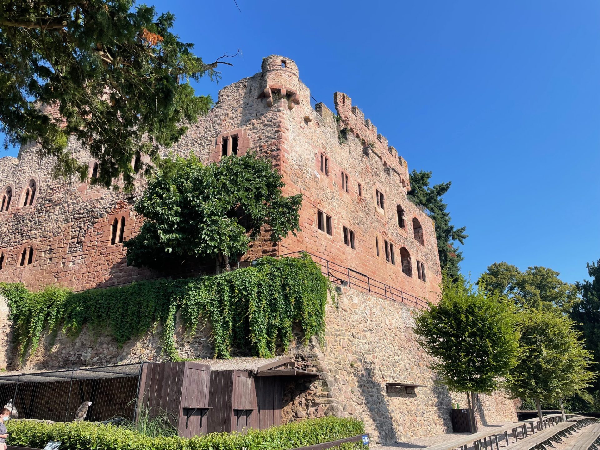
[{"label": "pale rubble-stone retaining wall below the railing and hanging vines", "polygon": [[[413,333],[417,310],[401,302],[380,299],[343,288],[339,307],[329,304],[323,345],[292,346],[299,367],[320,372],[319,379],[290,380],[286,386],[283,421],[324,415],[350,416],[365,422],[374,442],[391,443],[451,431],[452,404],[467,406],[464,394],[450,393],[436,383],[428,356]],[[5,301],[0,301],[0,329],[9,330]],[[84,329],[76,338],[46,335],[26,368],[67,368],[119,362],[162,361],[161,329],[131,340],[122,348],[112,337]],[[176,346],[182,358],[212,358],[210,327],[201,323],[192,336],[178,326]],[[10,341],[0,341],[0,361],[16,368]],[[386,383],[425,387],[386,389]],[[517,419],[515,406],[502,392],[481,395],[476,404],[483,425]]]}]

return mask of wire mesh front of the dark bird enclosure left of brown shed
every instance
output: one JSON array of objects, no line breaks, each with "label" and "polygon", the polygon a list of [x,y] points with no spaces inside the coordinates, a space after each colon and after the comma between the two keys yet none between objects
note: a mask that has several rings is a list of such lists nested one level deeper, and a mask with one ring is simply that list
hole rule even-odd
[{"label": "wire mesh front of the dark bird enclosure left of brown shed", "polygon": [[[0,375],[0,406],[12,400],[20,419],[133,420],[141,363]],[[91,402],[91,405],[88,405]],[[87,405],[85,415],[77,410]]]}]

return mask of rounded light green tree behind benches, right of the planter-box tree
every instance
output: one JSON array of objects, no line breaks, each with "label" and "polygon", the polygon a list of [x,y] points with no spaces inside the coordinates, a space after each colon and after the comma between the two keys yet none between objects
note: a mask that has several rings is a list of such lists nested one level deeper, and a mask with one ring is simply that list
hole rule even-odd
[{"label": "rounded light green tree behind benches, right of the planter-box tree", "polygon": [[[515,398],[533,398],[542,418],[541,401],[550,403],[583,391],[596,374],[575,323],[558,311],[524,308],[517,315],[519,352],[506,387]],[[564,410],[563,410],[564,413]]]}]

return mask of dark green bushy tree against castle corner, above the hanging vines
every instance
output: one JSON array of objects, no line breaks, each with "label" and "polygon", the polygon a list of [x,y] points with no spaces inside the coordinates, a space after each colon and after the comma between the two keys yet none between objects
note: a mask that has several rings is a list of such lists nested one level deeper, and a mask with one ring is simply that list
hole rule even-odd
[{"label": "dark green bushy tree against castle corner, above the hanging vines", "polygon": [[195,155],[167,158],[136,212],[145,221],[125,242],[127,263],[163,268],[182,259],[215,258],[226,265],[248,251],[268,227],[271,241],[299,230],[302,194],[284,197],[281,175],[254,154],[202,164]]}]

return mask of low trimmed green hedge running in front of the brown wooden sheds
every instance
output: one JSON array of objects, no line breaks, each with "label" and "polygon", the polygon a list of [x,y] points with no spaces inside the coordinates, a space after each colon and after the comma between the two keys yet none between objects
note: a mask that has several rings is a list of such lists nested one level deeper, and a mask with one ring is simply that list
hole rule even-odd
[{"label": "low trimmed green hedge running in front of the brown wooden sheds", "polygon": [[[44,448],[50,440],[61,440],[61,450],[288,450],[364,434],[362,422],[333,416],[249,430],[247,434],[211,433],[191,439],[147,437],[116,425],[92,422],[46,424],[21,419],[7,425],[8,445]],[[362,447],[362,443],[358,445]]]}]

